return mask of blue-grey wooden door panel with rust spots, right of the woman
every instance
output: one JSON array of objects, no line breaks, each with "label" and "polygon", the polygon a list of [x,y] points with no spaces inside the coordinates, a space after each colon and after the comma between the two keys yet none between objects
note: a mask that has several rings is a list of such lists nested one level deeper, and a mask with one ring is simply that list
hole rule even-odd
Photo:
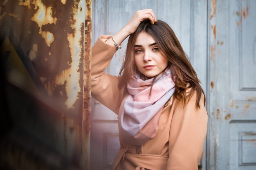
[{"label": "blue-grey wooden door panel with rust spots, right of the woman", "polygon": [[256,170],[255,8],[209,3],[209,170]]}]

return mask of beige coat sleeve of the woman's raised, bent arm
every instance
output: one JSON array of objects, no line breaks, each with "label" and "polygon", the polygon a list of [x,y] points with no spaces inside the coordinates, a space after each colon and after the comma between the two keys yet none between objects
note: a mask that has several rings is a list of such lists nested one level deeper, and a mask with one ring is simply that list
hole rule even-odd
[{"label": "beige coat sleeve of the woman's raised, bent arm", "polygon": [[92,97],[118,114],[122,94],[118,89],[118,77],[105,73],[117,51],[116,46],[106,43],[109,35],[101,35],[92,47],[91,92]]}]

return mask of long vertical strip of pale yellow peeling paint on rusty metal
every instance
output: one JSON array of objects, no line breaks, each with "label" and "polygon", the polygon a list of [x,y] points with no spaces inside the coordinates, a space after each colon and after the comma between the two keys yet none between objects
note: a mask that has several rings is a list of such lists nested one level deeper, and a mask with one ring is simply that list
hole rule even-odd
[{"label": "long vertical strip of pale yellow peeling paint on rusty metal", "polygon": [[[67,34],[67,40],[69,42],[70,54],[72,62],[70,67],[62,71],[62,73],[56,75],[55,84],[64,85],[67,94],[67,100],[65,102],[67,109],[73,108],[74,103],[79,98],[79,92],[81,92],[79,84],[79,64],[81,60],[81,44],[79,43],[82,38],[81,27],[83,26],[84,18],[84,4],[82,1],[75,2],[73,7],[73,19],[74,24],[71,24],[71,28],[74,29],[74,33]],[[82,9],[79,10],[79,9]],[[83,40],[82,40],[83,41]]]}]

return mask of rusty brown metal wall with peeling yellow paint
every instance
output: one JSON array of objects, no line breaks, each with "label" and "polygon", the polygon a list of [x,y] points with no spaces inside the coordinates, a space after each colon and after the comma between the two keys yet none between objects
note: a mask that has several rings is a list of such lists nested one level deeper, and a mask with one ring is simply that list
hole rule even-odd
[{"label": "rusty brown metal wall with peeling yellow paint", "polygon": [[88,169],[90,49],[91,0],[0,1],[0,168]]}]

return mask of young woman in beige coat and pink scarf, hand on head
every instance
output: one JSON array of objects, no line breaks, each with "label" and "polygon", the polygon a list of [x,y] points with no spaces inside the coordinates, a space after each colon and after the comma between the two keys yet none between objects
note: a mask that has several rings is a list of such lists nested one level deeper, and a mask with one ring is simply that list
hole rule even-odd
[{"label": "young woman in beige coat and pink scarf, hand on head", "polygon": [[[119,77],[104,73],[128,36]],[[112,170],[197,170],[207,132],[205,95],[173,30],[151,9],[92,48],[92,96],[118,115]]]}]

